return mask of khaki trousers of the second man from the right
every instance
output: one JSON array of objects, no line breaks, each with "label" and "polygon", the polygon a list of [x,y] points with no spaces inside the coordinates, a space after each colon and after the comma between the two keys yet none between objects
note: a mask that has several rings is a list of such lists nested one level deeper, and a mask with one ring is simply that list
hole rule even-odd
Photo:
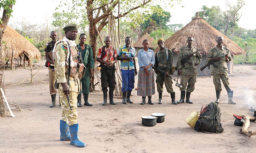
[{"label": "khaki trousers of the second man from the right", "polygon": [[181,85],[183,87],[180,88],[180,91],[193,92],[195,90],[196,80],[197,80],[197,74],[181,75]]}]

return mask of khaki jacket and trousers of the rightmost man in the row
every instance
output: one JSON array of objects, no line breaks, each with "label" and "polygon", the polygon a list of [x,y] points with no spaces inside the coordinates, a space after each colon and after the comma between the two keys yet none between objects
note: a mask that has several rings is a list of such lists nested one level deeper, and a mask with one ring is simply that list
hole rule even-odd
[{"label": "khaki jacket and trousers of the rightmost man in the row", "polygon": [[[217,46],[215,46],[210,50],[207,56],[207,62],[213,57],[223,56],[225,54],[228,54],[228,59],[229,61],[231,61],[232,58],[227,47],[222,46],[222,48],[219,49]],[[226,90],[232,91],[229,87],[228,67],[227,67],[226,58],[223,57],[220,61],[216,61],[215,64],[218,66],[217,68],[212,66],[213,84],[215,85],[215,90],[222,91],[222,88],[221,88],[221,80],[222,80]]]}]

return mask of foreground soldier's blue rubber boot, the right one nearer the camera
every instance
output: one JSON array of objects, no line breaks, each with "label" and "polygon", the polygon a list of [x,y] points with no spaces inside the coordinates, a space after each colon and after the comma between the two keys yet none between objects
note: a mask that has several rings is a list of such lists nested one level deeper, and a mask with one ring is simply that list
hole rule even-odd
[{"label": "foreground soldier's blue rubber boot, the right one nearer the camera", "polygon": [[71,135],[70,145],[75,147],[85,147],[86,144],[78,138],[78,124],[69,126],[69,131]]}]

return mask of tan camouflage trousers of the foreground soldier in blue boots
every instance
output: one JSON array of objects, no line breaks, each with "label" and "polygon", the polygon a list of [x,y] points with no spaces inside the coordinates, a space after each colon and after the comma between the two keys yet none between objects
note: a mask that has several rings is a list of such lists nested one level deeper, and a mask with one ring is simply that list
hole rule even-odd
[{"label": "tan camouflage trousers of the foreground soldier in blue boots", "polygon": [[62,115],[61,120],[67,122],[69,126],[73,124],[77,124],[77,95],[79,94],[81,88],[80,80],[71,78],[69,79],[69,102],[73,110],[69,108],[67,96],[63,93],[63,88],[59,86],[59,97],[60,97],[60,104],[62,108]]}]

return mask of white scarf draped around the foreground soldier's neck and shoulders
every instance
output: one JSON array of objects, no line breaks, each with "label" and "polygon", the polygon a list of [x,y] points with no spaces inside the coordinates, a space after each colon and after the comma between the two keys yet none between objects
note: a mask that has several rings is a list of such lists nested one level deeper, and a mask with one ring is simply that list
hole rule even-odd
[{"label": "white scarf draped around the foreground soldier's neck and shoulders", "polygon": [[[62,40],[58,40],[55,45],[54,45],[54,48],[53,48],[53,60],[55,61],[55,54],[56,54],[56,46],[61,42],[61,41],[64,41],[66,42],[67,44],[69,43],[71,47],[74,47],[76,46],[76,43],[75,43],[75,40],[69,40],[67,37],[63,37]],[[67,54],[67,58],[66,58],[66,63],[69,65],[68,63],[68,58],[69,58],[69,54],[70,54],[70,50],[69,50],[69,47],[68,48],[68,54]],[[71,58],[70,58],[70,66],[71,67],[74,67],[76,66],[76,63],[73,61],[72,59],[72,55],[71,55]]]}]

